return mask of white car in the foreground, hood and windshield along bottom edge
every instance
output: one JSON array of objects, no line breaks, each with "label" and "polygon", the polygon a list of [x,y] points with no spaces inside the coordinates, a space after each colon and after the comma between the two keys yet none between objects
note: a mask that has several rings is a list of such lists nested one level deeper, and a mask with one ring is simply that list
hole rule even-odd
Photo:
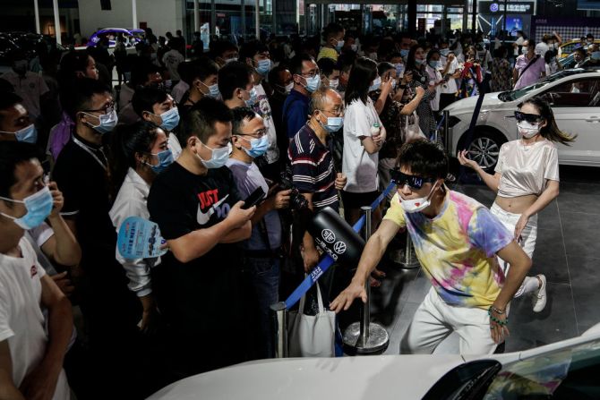
[{"label": "white car in the foreground, hood and windshield along bottom edge", "polygon": [[245,362],[148,400],[598,399],[600,324],[531,350],[486,356],[371,355]]}]

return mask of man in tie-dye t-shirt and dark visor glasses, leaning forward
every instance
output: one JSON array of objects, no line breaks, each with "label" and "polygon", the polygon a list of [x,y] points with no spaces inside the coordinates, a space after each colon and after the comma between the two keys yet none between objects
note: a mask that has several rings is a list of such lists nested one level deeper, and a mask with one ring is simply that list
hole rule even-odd
[{"label": "man in tie-dye t-shirt and dark visor glasses, leaning forward", "polygon": [[[448,158],[427,140],[400,149],[392,174],[398,192],[377,232],[366,244],[356,275],[330,304],[347,310],[391,239],[406,228],[432,288],[400,344],[401,353],[432,353],[455,331],[459,353],[493,353],[509,334],[508,305],[531,267],[513,235],[488,209],[444,185]],[[511,266],[504,277],[496,256]]]}]

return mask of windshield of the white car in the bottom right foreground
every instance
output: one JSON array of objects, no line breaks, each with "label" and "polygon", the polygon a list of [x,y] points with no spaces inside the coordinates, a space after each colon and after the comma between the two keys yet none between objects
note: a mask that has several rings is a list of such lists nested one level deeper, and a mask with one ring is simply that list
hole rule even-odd
[{"label": "windshield of the white car in the bottom right foreground", "polygon": [[600,398],[600,340],[506,365],[487,388],[488,399]]}]

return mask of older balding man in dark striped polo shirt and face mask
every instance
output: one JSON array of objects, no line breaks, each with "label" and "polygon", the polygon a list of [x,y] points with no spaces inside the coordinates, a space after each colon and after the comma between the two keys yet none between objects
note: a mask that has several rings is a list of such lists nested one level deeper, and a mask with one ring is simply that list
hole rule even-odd
[{"label": "older balding man in dark striped polo shirt and face mask", "polygon": [[[289,142],[287,157],[292,166],[294,185],[309,202],[310,209],[330,207],[338,211],[338,191],[347,178],[336,174],[330,148],[330,134],[344,126],[344,103],[338,92],[321,88],[312,96],[312,115]],[[308,232],[295,237],[292,245],[302,246],[304,271],[309,272],[319,261],[319,252]]]}]

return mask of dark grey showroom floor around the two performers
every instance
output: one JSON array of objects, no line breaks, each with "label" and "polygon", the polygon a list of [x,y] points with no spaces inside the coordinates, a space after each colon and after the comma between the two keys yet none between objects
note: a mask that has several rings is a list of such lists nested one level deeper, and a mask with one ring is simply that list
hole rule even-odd
[{"label": "dark grey showroom floor around the two performers", "polygon": [[[539,215],[536,252],[529,275],[547,278],[544,311],[532,311],[531,300],[512,302],[510,337],[506,352],[525,350],[579,336],[600,322],[600,169],[561,166],[561,194]],[[489,207],[494,193],[483,185],[455,185],[454,190]],[[385,353],[399,353],[400,338],[430,283],[421,268],[402,270],[394,265],[372,293],[373,320],[390,333]],[[436,353],[447,353],[456,338],[450,336]]]}]

